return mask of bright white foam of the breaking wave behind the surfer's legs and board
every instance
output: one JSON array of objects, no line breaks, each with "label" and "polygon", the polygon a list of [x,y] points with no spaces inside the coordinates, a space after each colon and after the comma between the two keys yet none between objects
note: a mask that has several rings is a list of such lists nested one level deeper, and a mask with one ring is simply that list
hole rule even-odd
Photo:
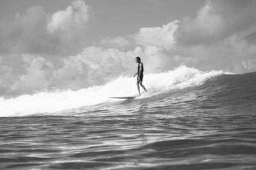
[{"label": "bright white foam of the breaking wave behind the surfer's legs and board", "polygon": [[[223,74],[223,71],[202,72],[186,66],[180,66],[164,73],[145,74],[143,84],[149,92],[141,97],[150,97],[166,90],[201,85],[208,78],[219,74]],[[141,89],[141,91],[143,90]],[[110,99],[109,96],[130,96],[136,93],[138,93],[136,78],[120,76],[105,85],[77,91],[39,92],[38,94],[22,95],[13,99],[1,97],[0,117],[53,113],[94,104],[115,102],[118,100]]]}]

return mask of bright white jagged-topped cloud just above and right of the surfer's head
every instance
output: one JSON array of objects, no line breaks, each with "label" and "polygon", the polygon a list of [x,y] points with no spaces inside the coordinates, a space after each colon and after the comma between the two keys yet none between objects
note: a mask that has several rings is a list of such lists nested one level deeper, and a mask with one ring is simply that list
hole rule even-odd
[{"label": "bright white jagged-topped cloud just above and right of the surfer's head", "polygon": [[179,27],[179,21],[175,20],[163,27],[143,27],[132,38],[142,46],[157,46],[170,50],[175,44],[175,32]]}]

